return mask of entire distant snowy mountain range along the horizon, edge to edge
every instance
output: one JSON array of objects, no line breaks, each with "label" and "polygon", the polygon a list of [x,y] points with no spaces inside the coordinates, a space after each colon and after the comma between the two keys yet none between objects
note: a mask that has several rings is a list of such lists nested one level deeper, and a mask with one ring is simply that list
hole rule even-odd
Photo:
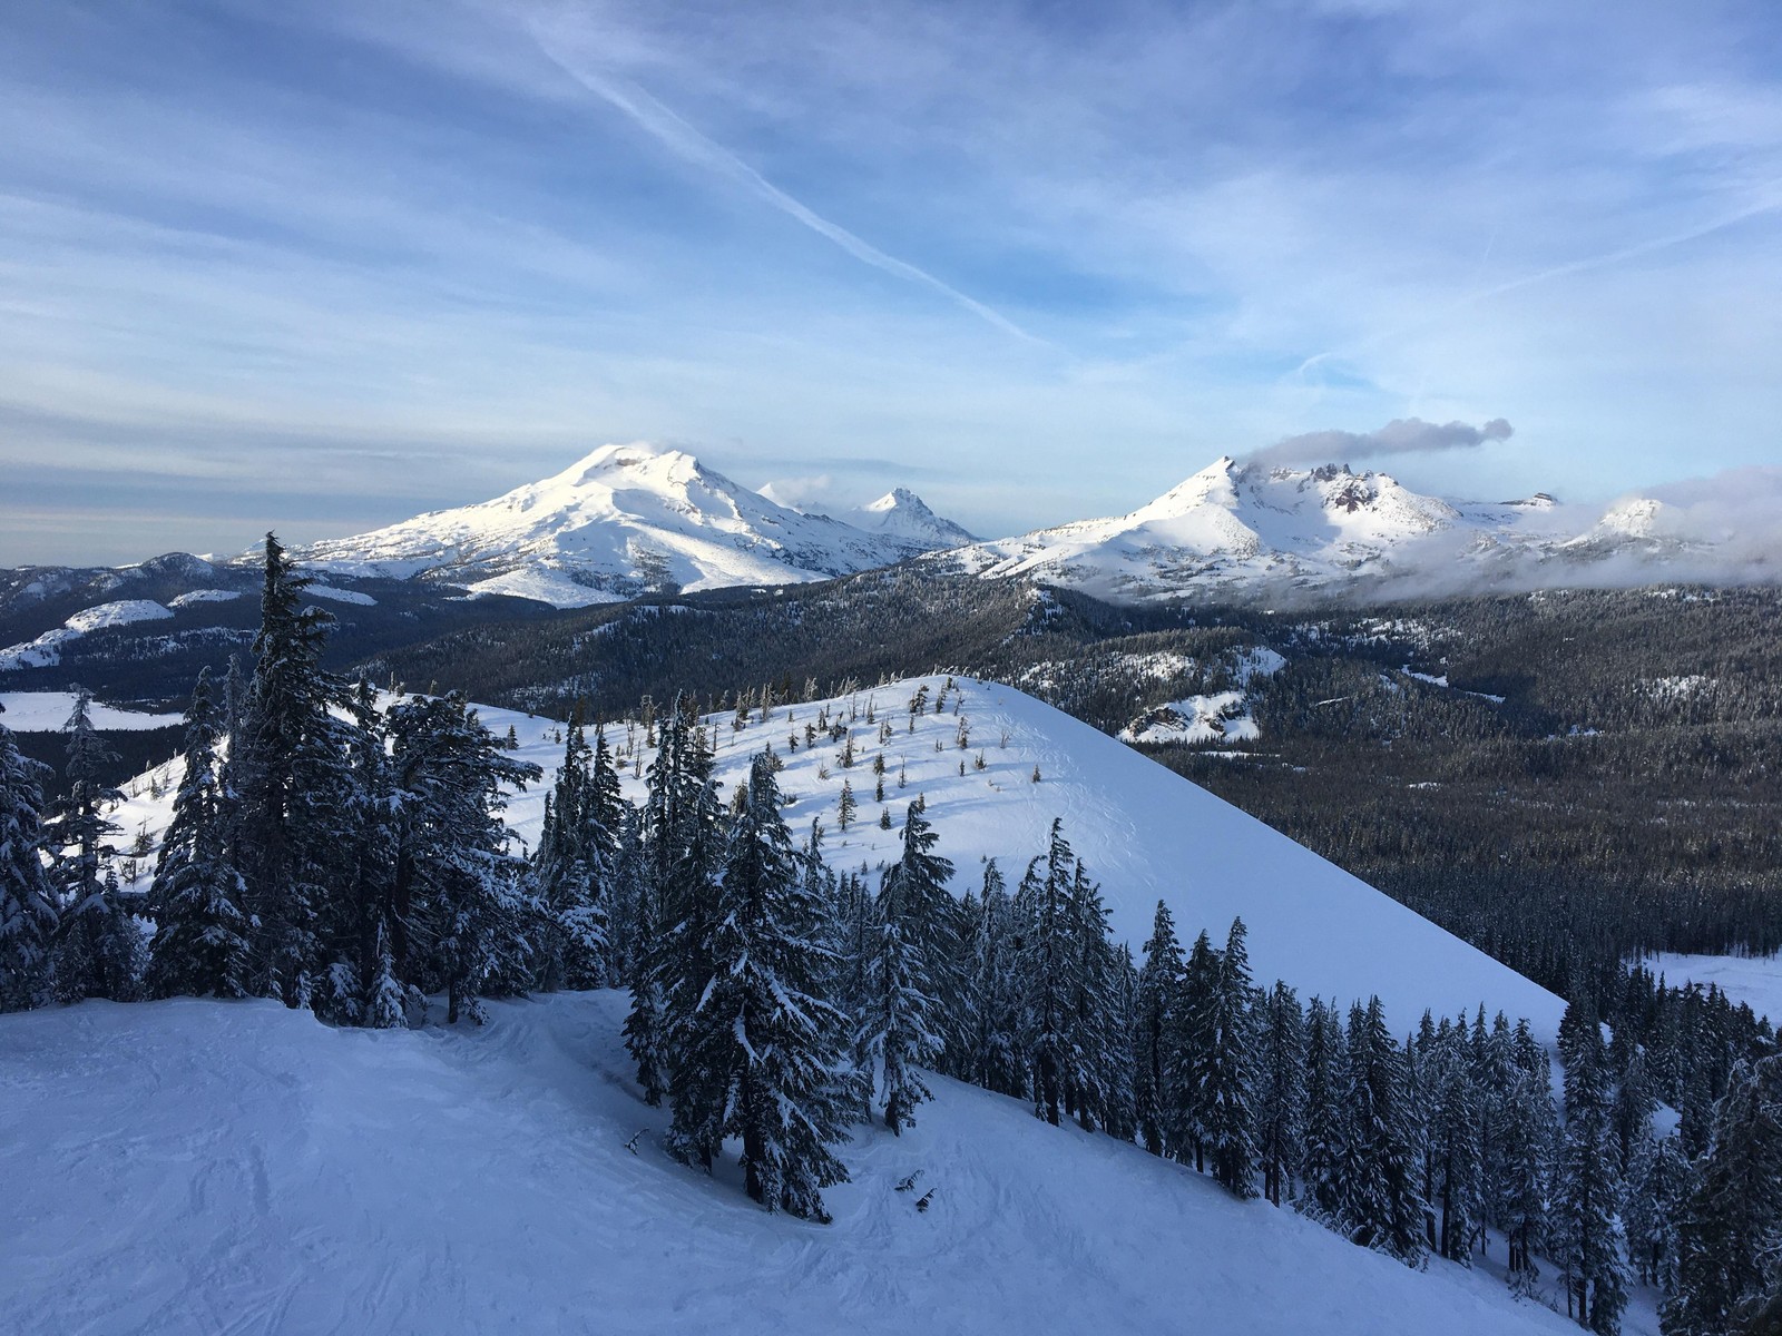
[{"label": "entire distant snowy mountain range along the horizon, edge to edge", "polygon": [[[1547,493],[1468,502],[1379,472],[1222,458],[1126,515],[978,540],[895,488],[822,515],[647,444],[602,445],[563,472],[458,509],[299,547],[324,582],[412,597],[506,595],[554,607],[834,579],[916,561],[1108,602],[1317,602],[1652,582],[1752,584],[1782,574],[1782,472],[1680,483],[1607,508]],[[258,552],[171,554],[119,568],[0,572],[0,670],[50,663],[77,620],[134,600],[253,586]],[[326,593],[326,591],[324,591]],[[351,600],[351,588],[331,591]],[[134,611],[132,611],[134,609]],[[123,616],[123,613],[119,613]],[[112,618],[118,620],[118,618]],[[189,620],[189,618],[187,618]],[[23,634],[20,634],[23,632]]]}]

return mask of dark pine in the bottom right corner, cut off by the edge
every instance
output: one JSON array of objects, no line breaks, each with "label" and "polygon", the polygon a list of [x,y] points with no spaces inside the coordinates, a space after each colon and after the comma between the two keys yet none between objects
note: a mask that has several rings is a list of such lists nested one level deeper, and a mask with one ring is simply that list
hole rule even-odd
[{"label": "dark pine in the bottom right corner, cut off by the edge", "polygon": [[1782,1284],[1782,1056],[1732,1072],[1677,1233],[1664,1336],[1746,1331]]}]

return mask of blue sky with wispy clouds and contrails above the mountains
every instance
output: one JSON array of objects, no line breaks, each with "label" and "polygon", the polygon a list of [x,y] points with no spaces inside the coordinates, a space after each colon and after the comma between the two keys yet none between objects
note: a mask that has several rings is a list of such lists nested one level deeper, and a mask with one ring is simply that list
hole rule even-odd
[{"label": "blue sky with wispy clouds and contrails above the mountains", "polygon": [[0,566],[606,442],[1005,534],[1221,454],[1736,488],[1778,420],[1768,0],[0,7]]}]

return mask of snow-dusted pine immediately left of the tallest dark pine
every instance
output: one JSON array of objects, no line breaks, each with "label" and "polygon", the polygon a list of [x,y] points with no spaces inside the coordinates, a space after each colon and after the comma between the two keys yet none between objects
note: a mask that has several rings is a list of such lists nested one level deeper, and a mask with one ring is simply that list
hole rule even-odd
[{"label": "snow-dusted pine immediately left of the tallest dark pine", "polygon": [[253,919],[242,908],[246,884],[230,859],[217,757],[223,727],[205,668],[185,713],[185,770],[150,892],[155,939],[146,985],[153,998],[248,992]]}]

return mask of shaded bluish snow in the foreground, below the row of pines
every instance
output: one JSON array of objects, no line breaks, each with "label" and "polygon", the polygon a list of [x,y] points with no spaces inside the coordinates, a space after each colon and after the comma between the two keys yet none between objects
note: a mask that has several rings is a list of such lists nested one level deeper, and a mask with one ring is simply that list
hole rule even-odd
[{"label": "shaded bluish snow in the foreground, below the row of pines", "polygon": [[659,1149],[620,994],[490,1010],[0,1015],[0,1331],[1575,1331],[1495,1265],[1411,1272],[944,1079],[914,1131],[845,1147],[832,1226],[764,1215],[734,1165],[715,1183]]}]

